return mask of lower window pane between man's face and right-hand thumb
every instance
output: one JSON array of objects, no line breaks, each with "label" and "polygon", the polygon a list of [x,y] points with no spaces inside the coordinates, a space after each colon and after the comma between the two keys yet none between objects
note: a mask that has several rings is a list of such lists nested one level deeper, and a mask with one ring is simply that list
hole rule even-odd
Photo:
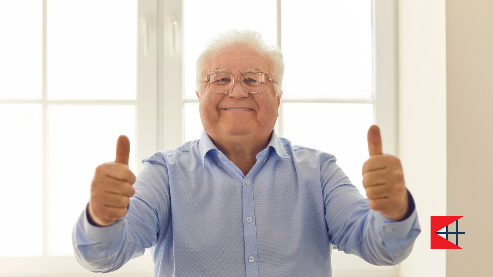
[{"label": "lower window pane between man's face and right-hand thumb", "polygon": [[368,159],[366,133],[372,104],[285,103],[284,136],[293,144],[331,153],[361,194],[361,168]]}]

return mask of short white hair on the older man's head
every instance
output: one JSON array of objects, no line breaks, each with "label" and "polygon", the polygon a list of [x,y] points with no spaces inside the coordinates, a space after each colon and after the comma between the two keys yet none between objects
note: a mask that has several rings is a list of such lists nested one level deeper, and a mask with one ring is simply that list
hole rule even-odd
[{"label": "short white hair on the older man's head", "polygon": [[253,30],[238,31],[235,29],[214,36],[207,44],[206,49],[197,58],[197,91],[200,93],[201,81],[207,76],[211,55],[223,46],[250,45],[257,48],[269,61],[269,77],[274,80],[276,96],[282,94],[282,75],[284,74],[284,60],[279,47],[264,39],[262,34]]}]

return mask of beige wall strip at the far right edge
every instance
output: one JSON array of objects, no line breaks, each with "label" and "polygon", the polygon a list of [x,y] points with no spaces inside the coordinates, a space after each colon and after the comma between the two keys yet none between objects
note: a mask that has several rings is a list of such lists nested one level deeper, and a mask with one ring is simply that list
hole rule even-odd
[{"label": "beige wall strip at the far right edge", "polygon": [[465,232],[447,277],[493,276],[493,1],[446,3],[447,215]]}]

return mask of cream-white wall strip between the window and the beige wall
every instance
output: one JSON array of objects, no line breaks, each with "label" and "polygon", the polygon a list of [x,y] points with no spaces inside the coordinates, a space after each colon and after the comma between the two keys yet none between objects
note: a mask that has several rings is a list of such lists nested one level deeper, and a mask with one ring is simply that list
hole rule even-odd
[{"label": "cream-white wall strip between the window and the beige wall", "polygon": [[430,216],[446,215],[445,0],[399,0],[399,157],[421,224],[402,277],[445,277]]}]

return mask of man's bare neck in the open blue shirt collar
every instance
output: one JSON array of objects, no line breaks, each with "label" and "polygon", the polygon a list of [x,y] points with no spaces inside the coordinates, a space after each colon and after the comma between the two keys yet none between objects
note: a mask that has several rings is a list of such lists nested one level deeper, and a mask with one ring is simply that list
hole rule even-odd
[{"label": "man's bare neck in the open blue shirt collar", "polygon": [[271,140],[272,133],[265,138],[221,140],[213,139],[212,143],[224,153],[246,176],[257,162],[257,154],[264,150]]}]

